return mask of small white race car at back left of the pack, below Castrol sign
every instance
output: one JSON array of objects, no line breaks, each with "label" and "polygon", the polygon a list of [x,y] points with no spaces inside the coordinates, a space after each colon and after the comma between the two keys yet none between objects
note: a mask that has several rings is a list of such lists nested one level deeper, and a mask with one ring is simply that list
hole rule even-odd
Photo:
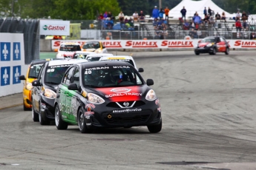
[{"label": "small white race car at back left of the pack, below Castrol sign", "polygon": [[56,54],[56,58],[72,58],[76,51],[81,51],[80,44],[74,42],[62,43]]}]

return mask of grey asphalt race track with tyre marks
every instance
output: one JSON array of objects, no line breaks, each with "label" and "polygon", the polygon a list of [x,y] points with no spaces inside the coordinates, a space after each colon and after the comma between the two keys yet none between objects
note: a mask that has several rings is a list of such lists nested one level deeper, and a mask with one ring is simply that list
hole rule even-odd
[{"label": "grey asphalt race track with tyre marks", "polygon": [[154,79],[160,133],[60,131],[33,122],[21,94],[11,95],[0,98],[0,169],[256,169],[255,51],[133,56],[143,78]]}]

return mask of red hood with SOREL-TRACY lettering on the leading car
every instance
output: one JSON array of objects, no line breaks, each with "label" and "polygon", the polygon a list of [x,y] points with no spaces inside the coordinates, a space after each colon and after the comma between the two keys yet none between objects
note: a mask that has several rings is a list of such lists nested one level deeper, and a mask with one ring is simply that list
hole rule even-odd
[{"label": "red hood with SOREL-TRACY lettering on the leading car", "polygon": [[96,88],[95,94],[112,102],[140,101],[145,99],[146,92],[149,89],[146,85]]}]

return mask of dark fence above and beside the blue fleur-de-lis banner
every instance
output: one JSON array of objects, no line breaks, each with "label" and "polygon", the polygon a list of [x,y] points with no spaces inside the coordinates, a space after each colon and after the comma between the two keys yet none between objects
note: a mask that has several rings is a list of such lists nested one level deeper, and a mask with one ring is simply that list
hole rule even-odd
[{"label": "dark fence above and beside the blue fleur-de-lis banner", "polygon": [[0,33],[23,33],[25,64],[39,59],[38,19],[0,18]]}]

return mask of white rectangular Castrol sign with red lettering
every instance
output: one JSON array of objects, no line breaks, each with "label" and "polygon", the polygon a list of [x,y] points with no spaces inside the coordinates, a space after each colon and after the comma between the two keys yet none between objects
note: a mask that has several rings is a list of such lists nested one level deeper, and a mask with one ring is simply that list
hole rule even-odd
[{"label": "white rectangular Castrol sign with red lettering", "polygon": [[70,21],[40,20],[40,35],[70,35]]}]

